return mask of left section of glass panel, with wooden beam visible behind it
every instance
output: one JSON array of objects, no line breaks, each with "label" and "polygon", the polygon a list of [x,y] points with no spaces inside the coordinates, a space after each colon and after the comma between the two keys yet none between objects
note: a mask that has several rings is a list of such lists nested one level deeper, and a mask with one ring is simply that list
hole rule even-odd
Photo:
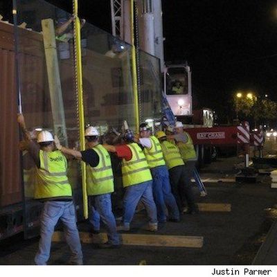
[{"label": "left section of glass panel, with wooden beam visible behind it", "polygon": [[[40,0],[17,0],[19,87],[26,125],[36,139],[40,128],[57,134],[70,148],[78,147],[73,23],[71,15]],[[42,204],[33,200],[35,165],[24,154],[26,238],[37,233]],[[80,162],[69,161],[68,176],[78,217],[82,217]]]}]

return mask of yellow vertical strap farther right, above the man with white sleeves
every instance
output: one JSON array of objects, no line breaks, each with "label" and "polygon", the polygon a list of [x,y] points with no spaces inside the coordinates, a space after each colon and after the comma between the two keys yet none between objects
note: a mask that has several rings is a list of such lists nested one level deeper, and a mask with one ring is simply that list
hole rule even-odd
[{"label": "yellow vertical strap farther right, above the man with white sleeves", "polygon": [[138,80],[136,75],[136,47],[134,46],[134,0],[131,0],[131,39],[132,39],[132,79],[134,93],[134,118],[136,124],[136,133],[139,132],[139,96]]}]

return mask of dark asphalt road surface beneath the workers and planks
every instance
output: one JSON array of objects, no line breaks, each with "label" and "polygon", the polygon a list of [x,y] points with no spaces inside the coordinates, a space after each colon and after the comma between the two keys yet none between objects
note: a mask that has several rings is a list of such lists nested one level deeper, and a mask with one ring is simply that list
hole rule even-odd
[{"label": "dark asphalt road surface beneath the workers and planks", "polygon": [[[234,159],[222,159],[202,170],[202,178],[220,178],[207,183],[208,195],[200,197],[194,186],[197,202],[231,204],[231,212],[202,212],[182,215],[181,222],[160,226],[157,234],[196,235],[204,237],[200,249],[179,247],[134,247],[96,249],[83,244],[85,265],[251,265],[265,235],[275,220],[277,190],[270,188],[270,179],[260,177],[256,184],[232,181]],[[224,182],[224,178],[228,181]],[[271,208],[271,209],[270,209]],[[146,224],[142,211],[134,218],[133,232],[143,231]],[[86,229],[80,224],[80,229]],[[0,244],[0,265],[33,265],[38,239],[23,241],[12,238]],[[69,247],[53,243],[49,265],[66,265]]]}]

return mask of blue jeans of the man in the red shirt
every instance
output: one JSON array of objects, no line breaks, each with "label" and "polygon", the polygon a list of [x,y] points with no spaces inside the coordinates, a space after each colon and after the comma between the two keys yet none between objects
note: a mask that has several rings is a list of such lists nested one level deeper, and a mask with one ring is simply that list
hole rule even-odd
[{"label": "blue jeans of the man in the red shirt", "polygon": [[152,181],[146,181],[134,186],[127,186],[123,197],[123,225],[129,226],[134,217],[139,200],[143,202],[149,217],[150,225],[157,225],[157,208],[153,199]]}]

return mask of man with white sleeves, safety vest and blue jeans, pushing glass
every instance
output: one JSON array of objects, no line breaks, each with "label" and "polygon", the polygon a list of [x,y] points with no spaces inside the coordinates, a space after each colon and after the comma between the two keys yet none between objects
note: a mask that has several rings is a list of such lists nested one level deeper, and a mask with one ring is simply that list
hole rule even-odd
[{"label": "man with white sleeves, safety vest and blue jeans, pushing glass", "polygon": [[155,136],[151,136],[151,128],[147,123],[139,126],[139,143],[143,145],[143,152],[153,177],[153,196],[157,206],[159,222],[166,222],[167,207],[168,221],[179,222],[180,215],[175,197],[171,193],[168,168],[163,159],[161,144]]}]

